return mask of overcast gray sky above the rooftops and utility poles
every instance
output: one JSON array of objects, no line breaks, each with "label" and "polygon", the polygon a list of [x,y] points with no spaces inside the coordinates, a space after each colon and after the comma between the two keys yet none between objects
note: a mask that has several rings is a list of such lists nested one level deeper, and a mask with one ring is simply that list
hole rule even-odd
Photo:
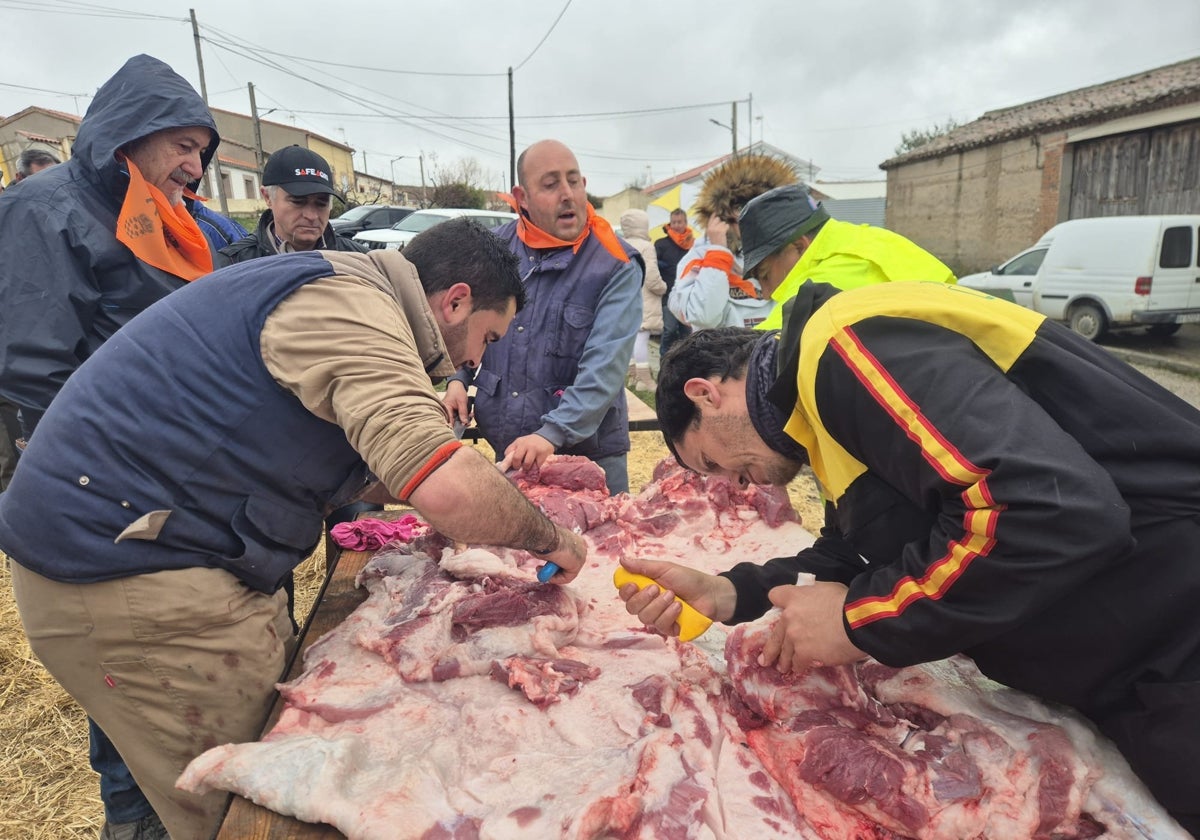
[{"label": "overcast gray sky above the rooftops and utility poles", "polygon": [[739,145],[882,179],[906,131],[1200,56],[1200,0],[112,2],[0,0],[0,114],[83,114],[137,53],[199,90],[194,8],[214,107],[250,113],[252,82],[358,169],[473,158],[504,190],[512,67],[517,151],[565,142],[598,196],[728,152],[733,101]]}]

